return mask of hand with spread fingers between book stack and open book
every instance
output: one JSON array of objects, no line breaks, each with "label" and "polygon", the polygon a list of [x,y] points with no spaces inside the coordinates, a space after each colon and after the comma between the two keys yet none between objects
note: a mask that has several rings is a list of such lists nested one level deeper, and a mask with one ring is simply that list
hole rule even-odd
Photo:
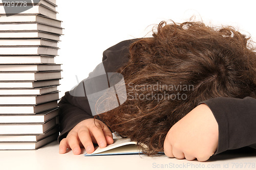
[{"label": "hand with spread fingers between book stack and open book", "polygon": [[[95,126],[96,125],[96,126]],[[112,144],[113,135],[109,128],[100,120],[89,118],[77,124],[59,143],[59,153],[66,153],[67,148],[73,150],[74,155],[81,153],[80,147],[84,147],[87,153],[94,152],[93,143],[98,143],[100,148],[106,144]]]}]

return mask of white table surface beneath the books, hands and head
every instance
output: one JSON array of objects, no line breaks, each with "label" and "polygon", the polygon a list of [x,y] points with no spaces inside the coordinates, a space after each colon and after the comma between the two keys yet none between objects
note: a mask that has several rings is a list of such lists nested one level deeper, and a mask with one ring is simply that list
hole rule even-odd
[{"label": "white table surface beneath the books, hands and head", "polygon": [[[84,153],[85,151],[82,150]],[[253,166],[254,164],[254,166]],[[250,167],[249,167],[250,165]],[[165,155],[112,155],[84,157],[72,151],[58,154],[54,141],[35,151],[0,151],[0,169],[256,169],[256,151],[224,153],[206,162],[178,160]]]}]

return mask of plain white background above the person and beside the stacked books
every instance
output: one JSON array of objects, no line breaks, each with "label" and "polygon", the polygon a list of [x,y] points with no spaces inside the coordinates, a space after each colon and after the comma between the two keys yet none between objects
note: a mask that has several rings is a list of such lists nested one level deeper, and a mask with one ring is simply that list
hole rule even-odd
[{"label": "plain white background above the person and beside the stacked books", "polygon": [[[207,25],[231,25],[256,41],[256,1],[67,1],[57,0],[57,19],[65,28],[57,63],[62,63],[60,97],[87,78],[102,52],[125,39],[140,38],[169,19],[195,16]],[[194,19],[195,20],[195,19]],[[148,34],[147,36],[150,36]]]}]

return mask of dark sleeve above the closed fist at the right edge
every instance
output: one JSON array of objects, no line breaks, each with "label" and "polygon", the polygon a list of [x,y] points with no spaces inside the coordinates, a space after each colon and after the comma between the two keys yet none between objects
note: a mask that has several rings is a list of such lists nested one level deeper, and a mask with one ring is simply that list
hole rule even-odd
[{"label": "dark sleeve above the closed fist at the right edge", "polygon": [[243,147],[256,149],[256,99],[219,97],[202,103],[211,109],[219,126],[215,155]]}]

